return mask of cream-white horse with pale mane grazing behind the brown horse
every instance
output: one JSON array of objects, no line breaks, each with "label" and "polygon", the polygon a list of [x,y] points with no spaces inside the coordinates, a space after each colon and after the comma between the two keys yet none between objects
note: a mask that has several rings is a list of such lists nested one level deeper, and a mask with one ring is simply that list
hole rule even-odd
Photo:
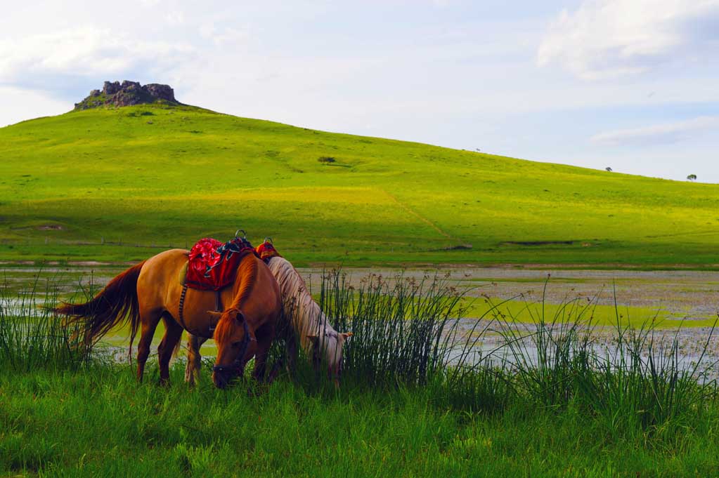
[{"label": "cream-white horse with pale mane grazing behind the brown horse", "polygon": [[[299,337],[302,350],[313,362],[315,367],[321,363],[327,365],[329,377],[339,386],[339,377],[342,374],[342,347],[352,332],[337,332],[332,328],[320,306],[312,299],[305,281],[300,273],[285,258],[275,256],[267,263],[275,280],[280,286],[280,296],[283,299],[285,317],[292,318],[292,330]],[[296,337],[288,337],[288,355],[293,363],[297,349]],[[201,367],[200,347],[207,339],[188,337],[188,360],[185,369],[185,381],[194,385],[199,378]]]}]

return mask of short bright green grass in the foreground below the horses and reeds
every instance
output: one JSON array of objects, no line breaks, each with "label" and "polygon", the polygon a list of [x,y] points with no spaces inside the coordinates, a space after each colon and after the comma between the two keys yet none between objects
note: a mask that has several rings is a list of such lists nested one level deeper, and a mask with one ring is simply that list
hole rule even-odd
[{"label": "short bright green grass in the foreground below the horses and reeds", "polygon": [[[204,370],[203,372],[206,372]],[[155,371],[155,375],[157,372]],[[152,374],[150,374],[152,376]],[[0,372],[0,471],[67,477],[713,476],[719,413],[672,439],[618,434],[572,410],[464,413],[429,388],[339,393],[280,380],[138,385],[127,365]]]}]

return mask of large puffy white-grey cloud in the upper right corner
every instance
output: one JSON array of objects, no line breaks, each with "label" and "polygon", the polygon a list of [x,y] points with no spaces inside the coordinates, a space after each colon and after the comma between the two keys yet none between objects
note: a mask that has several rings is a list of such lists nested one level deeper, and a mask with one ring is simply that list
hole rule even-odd
[{"label": "large puffy white-grey cloud in the upper right corner", "polygon": [[596,80],[707,61],[718,57],[718,24],[719,0],[587,0],[559,14],[537,62]]}]

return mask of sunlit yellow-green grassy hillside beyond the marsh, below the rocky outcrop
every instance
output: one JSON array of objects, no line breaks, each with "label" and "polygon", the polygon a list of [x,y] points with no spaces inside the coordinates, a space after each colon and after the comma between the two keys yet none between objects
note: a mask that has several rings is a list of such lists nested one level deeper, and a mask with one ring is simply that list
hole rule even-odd
[{"label": "sunlit yellow-green grassy hillside beyond the marsh, below the rocky outcrop", "polygon": [[718,210],[718,185],[192,107],[0,128],[0,261],[133,261],[243,228],[298,264],[719,267]]}]

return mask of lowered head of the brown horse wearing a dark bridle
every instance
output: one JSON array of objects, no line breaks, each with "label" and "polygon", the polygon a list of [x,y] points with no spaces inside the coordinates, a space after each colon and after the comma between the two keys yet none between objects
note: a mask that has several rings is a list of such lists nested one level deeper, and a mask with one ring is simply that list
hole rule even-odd
[{"label": "lowered head of the brown horse wearing a dark bridle", "polygon": [[225,388],[232,379],[242,376],[247,360],[255,355],[257,340],[239,309],[228,309],[221,314],[208,312],[219,317],[213,337],[217,359],[212,367],[212,381],[217,388]]}]

